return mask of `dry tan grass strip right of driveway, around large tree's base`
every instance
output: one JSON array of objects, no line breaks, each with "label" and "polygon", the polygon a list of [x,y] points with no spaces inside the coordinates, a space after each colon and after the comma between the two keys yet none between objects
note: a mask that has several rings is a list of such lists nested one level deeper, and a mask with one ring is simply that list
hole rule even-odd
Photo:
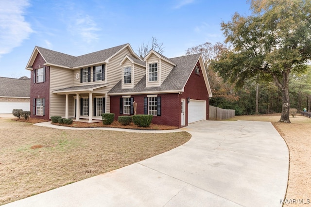
[{"label": "dry tan grass strip right of driveway, around large tree's base", "polygon": [[[269,121],[283,137],[289,147],[290,171],[286,197],[288,201],[301,199],[304,203],[311,199],[311,119],[300,116],[291,117],[292,124],[278,123],[280,114],[258,116],[236,116],[230,121]],[[284,206],[306,206],[289,204]]]}]

